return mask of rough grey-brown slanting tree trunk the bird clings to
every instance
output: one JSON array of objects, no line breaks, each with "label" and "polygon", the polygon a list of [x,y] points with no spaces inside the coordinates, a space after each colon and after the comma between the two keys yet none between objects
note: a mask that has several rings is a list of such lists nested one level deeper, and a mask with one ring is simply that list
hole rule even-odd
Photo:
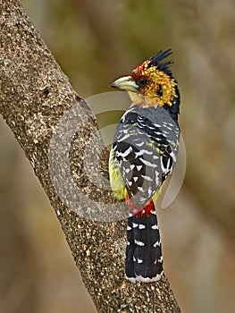
[{"label": "rough grey-brown slanting tree trunk the bird clings to", "polygon": [[[83,172],[84,148],[97,132],[96,119],[86,103],[71,88],[54,56],[39,37],[17,0],[0,1],[0,113],[29,158],[35,174],[55,208],[72,256],[80,269],[89,294],[99,312],[180,312],[167,278],[156,283],[132,284],[124,277],[126,221],[99,222],[84,212],[99,216],[102,204],[113,206],[110,193],[96,188]],[[78,190],[76,213],[55,191],[49,173],[49,151],[63,151],[66,131],[53,141],[52,135],[63,113],[76,105],[68,122],[77,123],[77,134],[70,148],[70,168]],[[70,120],[71,119],[71,120]],[[85,126],[84,126],[85,125]],[[94,156],[104,150],[102,140],[94,139]],[[92,160],[91,160],[92,162]],[[54,155],[53,165],[60,164]],[[101,169],[106,173],[105,157]],[[92,164],[91,164],[92,170]],[[65,174],[65,173],[64,173]],[[63,175],[63,169],[58,173]],[[98,176],[98,174],[97,174]],[[98,177],[97,177],[98,179]],[[65,198],[71,199],[74,186],[68,181]],[[58,186],[64,188],[64,186]],[[94,206],[90,205],[94,203]],[[68,203],[67,203],[68,204]],[[107,214],[107,213],[106,213]],[[112,220],[112,218],[110,218]]]}]

